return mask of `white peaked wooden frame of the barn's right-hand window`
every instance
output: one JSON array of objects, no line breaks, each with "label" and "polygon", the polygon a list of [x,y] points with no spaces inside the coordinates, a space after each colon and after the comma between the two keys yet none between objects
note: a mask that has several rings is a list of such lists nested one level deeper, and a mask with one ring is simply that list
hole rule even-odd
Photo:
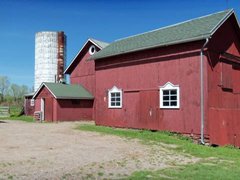
[{"label": "white peaked wooden frame of the barn's right-hand window", "polygon": [[[177,102],[176,106],[171,106],[170,104],[168,106],[164,105],[163,102],[163,91],[165,90],[177,90],[177,100],[174,100]],[[171,102],[171,100],[168,100]],[[167,82],[164,86],[160,86],[160,108],[161,109],[179,109],[180,108],[180,88],[179,85],[173,85],[171,82]]]}]

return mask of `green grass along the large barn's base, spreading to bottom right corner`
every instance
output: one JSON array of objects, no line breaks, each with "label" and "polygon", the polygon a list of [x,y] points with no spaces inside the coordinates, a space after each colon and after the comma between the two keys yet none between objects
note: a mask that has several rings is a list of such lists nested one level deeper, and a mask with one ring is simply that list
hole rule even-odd
[{"label": "green grass along the large barn's base, spreading to bottom right corner", "polygon": [[194,144],[191,139],[169,132],[117,129],[95,125],[80,125],[79,130],[139,139],[146,144],[159,142],[177,145],[176,153],[188,153],[201,160],[195,164],[173,166],[157,171],[136,171],[129,179],[240,179],[240,150],[229,147],[209,147]]}]

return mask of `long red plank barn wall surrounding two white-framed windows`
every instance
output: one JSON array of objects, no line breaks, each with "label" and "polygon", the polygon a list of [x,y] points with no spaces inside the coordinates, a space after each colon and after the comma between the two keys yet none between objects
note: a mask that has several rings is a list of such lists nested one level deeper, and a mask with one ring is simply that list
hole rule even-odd
[{"label": "long red plank barn wall surrounding two white-framed windows", "polygon": [[[202,44],[169,46],[97,60],[96,124],[199,134]],[[204,78],[207,80],[207,74]],[[159,108],[159,86],[168,81],[180,86],[180,109]],[[107,92],[113,86],[123,89],[121,109],[108,108]]]}]

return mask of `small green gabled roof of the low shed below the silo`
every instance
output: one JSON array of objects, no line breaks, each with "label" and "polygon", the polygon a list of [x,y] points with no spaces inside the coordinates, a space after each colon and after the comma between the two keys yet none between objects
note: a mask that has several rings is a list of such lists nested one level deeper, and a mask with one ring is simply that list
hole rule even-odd
[{"label": "small green gabled roof of the low shed below the silo", "polygon": [[37,97],[43,87],[46,87],[56,99],[94,99],[93,95],[83,86],[62,83],[42,83],[33,99]]}]

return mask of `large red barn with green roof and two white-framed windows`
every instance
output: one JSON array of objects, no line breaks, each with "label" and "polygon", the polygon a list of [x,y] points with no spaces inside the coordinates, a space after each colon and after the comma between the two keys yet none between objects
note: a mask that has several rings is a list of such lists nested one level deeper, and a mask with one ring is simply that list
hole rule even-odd
[{"label": "large red barn with green roof and two white-framed windows", "polygon": [[96,124],[240,146],[240,29],[233,10],[115,41],[91,59]]}]

